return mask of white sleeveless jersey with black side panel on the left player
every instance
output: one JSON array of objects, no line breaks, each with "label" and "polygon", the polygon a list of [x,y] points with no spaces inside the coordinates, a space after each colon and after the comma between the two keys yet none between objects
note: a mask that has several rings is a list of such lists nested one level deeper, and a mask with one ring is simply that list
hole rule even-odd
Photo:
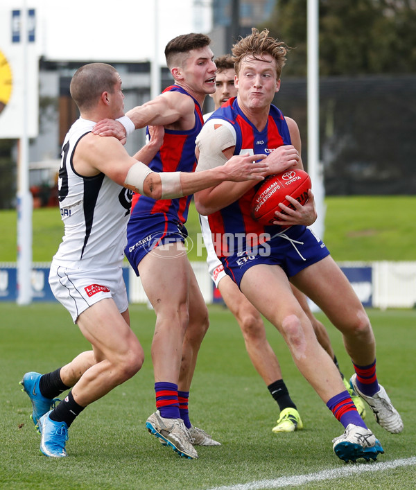
[{"label": "white sleeveless jersey with black side panel on the left player", "polygon": [[58,199],[64,237],[53,261],[72,269],[121,266],[127,242],[132,192],[103,173],[83,177],[73,168],[73,152],[94,125],[78,119],[62,146]]}]

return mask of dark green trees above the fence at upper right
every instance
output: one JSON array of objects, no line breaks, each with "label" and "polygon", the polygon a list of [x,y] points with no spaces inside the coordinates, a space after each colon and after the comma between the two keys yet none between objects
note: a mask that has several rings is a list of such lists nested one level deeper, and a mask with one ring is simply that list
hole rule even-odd
[{"label": "dark green trees above the fence at upper right", "polygon": [[[293,47],[286,76],[306,76],[307,0],[277,0],[271,35]],[[416,72],[416,0],[320,0],[320,75]]]}]

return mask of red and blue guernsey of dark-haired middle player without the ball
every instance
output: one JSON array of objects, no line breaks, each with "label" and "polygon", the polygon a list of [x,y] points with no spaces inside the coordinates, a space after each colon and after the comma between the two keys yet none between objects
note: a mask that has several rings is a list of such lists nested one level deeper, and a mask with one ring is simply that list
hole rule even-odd
[{"label": "red and blue guernsey of dark-haired middle player without the ball", "polygon": [[[195,103],[195,125],[188,131],[165,129],[163,144],[150,162],[149,168],[155,172],[193,172],[196,168],[195,140],[204,120],[197,100],[182,87],[171,85],[166,91],[178,91],[193,99]],[[188,218],[191,195],[184,198],[155,200],[146,195],[135,193],[132,200],[131,216],[148,216],[155,213],[166,213],[168,216],[184,223]]]}]

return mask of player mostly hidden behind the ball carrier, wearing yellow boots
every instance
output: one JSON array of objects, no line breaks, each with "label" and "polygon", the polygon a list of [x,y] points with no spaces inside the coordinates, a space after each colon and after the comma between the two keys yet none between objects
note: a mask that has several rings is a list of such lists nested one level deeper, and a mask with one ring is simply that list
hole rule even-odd
[{"label": "player mostly hidden behind the ball carrier, wearing yellow boots", "polygon": [[[234,85],[236,72],[234,71],[234,59],[231,55],[220,56],[216,58],[214,62],[217,67],[216,91],[215,94],[211,94],[210,97],[214,100],[214,110],[217,110],[221,105],[227,102],[229,98],[236,97],[237,89]],[[207,121],[211,115],[212,112],[204,114],[204,121]],[[214,250],[207,216],[200,215],[200,225],[205,247],[207,249],[209,275],[220,291],[223,301],[239,323],[244,337],[245,348],[247,349],[253,366],[261,378],[263,378],[270,394],[279,406],[279,418],[277,420],[277,425],[272,428],[272,431],[294,432],[295,430],[300,430],[303,428],[302,419],[297,411],[295,402],[291,399],[288,387],[286,387],[286,383],[284,383],[276,354],[272,347],[270,347],[266,338],[266,330],[261,315],[239,290],[236,283],[225,273],[224,266],[216,256]],[[305,311],[306,315],[308,315],[309,320],[311,320],[318,342],[329,353],[333,362],[335,362],[338,369],[340,369],[324,324],[322,324],[322,322],[320,322],[311,312],[306,296],[300,292],[300,290],[295,288],[293,284],[291,284],[291,288],[297,301],[300,302],[302,309]],[[341,371],[340,376],[343,378],[343,383],[349,390],[349,394],[352,395],[352,400],[354,401],[358,412],[364,419],[365,405],[363,400],[349,387],[349,380],[345,378]]]}]

